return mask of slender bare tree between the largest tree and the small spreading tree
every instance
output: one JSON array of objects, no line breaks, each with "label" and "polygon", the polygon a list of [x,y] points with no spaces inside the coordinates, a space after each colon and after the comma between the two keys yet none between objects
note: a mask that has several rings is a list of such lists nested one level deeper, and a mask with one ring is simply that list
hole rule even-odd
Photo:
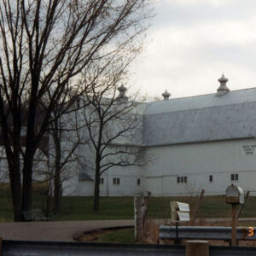
[{"label": "slender bare tree between the largest tree and the small spreading tree", "polygon": [[[70,111],[73,113],[72,121],[69,119],[68,112]],[[54,184],[54,212],[61,210],[62,183],[75,175],[74,169],[79,159],[76,150],[82,140],[81,128],[83,127],[78,120],[77,109],[73,112],[73,109],[60,107],[52,112],[52,121],[49,125],[49,135],[53,146],[53,150],[49,150],[52,164],[49,177],[52,181],[49,184]],[[73,170],[70,170],[70,166],[73,166]]]}]

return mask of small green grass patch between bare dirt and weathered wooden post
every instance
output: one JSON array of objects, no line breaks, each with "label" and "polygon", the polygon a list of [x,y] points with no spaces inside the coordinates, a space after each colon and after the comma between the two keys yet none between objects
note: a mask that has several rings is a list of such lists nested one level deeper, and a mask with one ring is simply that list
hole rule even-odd
[{"label": "small green grass patch between bare dirt and weathered wooden post", "polygon": [[110,231],[103,234],[97,242],[134,243],[134,229]]}]

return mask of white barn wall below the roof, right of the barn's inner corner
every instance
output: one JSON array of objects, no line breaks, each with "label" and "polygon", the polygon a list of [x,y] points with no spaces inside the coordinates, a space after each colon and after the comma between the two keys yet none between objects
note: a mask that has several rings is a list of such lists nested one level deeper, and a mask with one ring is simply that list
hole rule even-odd
[{"label": "white barn wall below the roof, right of the barn's inner corner", "polygon": [[[243,154],[243,145],[256,144],[255,139],[190,143],[158,146],[148,149],[154,164],[148,165],[146,189],[154,196],[188,195],[205,189],[206,195],[224,195],[231,173],[239,174],[233,182],[256,195],[256,155]],[[209,175],[213,181],[209,182]],[[177,176],[188,177],[188,183],[177,183]]]}]

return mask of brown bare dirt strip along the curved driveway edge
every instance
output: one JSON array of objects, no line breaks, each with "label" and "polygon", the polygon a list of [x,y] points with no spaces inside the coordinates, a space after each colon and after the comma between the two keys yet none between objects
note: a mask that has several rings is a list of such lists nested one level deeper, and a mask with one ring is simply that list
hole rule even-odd
[{"label": "brown bare dirt strip along the curved driveway edge", "polygon": [[75,241],[98,241],[103,234],[113,232],[116,230],[128,230],[133,228],[133,226],[127,227],[113,227],[113,228],[106,228],[101,230],[90,230],[86,232],[79,232],[73,236]]}]

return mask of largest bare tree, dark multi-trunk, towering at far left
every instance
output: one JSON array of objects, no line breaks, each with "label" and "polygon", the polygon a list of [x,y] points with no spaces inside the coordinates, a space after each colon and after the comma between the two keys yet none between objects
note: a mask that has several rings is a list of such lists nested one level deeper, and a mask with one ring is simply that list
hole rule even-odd
[{"label": "largest bare tree, dark multi-trunk, towering at far left", "polygon": [[[52,111],[65,98],[67,84],[82,93],[85,88],[74,85],[82,70],[133,44],[146,29],[145,20],[151,15],[148,3],[1,1],[0,125],[15,221],[31,208],[33,156],[48,130]],[[26,127],[24,137],[22,127]]]}]

